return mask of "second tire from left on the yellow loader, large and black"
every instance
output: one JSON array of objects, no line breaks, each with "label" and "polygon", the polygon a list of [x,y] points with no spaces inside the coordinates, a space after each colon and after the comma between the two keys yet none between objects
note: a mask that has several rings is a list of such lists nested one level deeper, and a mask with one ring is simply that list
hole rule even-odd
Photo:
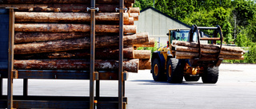
[{"label": "second tire from left on the yellow loader, large and black", "polygon": [[166,66],[167,81],[173,84],[181,84],[183,80],[184,60],[170,58]]}]

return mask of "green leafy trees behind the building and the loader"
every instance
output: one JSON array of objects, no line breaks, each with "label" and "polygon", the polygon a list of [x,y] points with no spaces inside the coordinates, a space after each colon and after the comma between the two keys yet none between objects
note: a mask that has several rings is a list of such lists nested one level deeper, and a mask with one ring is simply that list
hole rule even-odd
[{"label": "green leafy trees behind the building and the loader", "polygon": [[256,0],[136,0],[134,3],[141,10],[148,6],[187,25],[220,25],[223,44],[246,50],[244,60],[225,62],[256,63]]}]

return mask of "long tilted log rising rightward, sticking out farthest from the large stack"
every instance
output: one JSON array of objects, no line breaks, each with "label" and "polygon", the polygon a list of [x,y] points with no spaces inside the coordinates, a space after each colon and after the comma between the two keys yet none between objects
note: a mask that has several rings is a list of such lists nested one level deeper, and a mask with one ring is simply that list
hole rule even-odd
[{"label": "long tilted log rising rightward, sticking out farthest from the large stack", "polygon": [[[148,36],[140,35],[127,35],[123,37],[124,45],[141,44],[148,40]],[[117,47],[119,38],[115,36],[96,37],[96,48],[110,48]],[[46,41],[38,43],[27,43],[14,45],[15,54],[30,54],[30,53],[55,53],[77,49],[89,49],[90,37],[58,40],[58,41]]]}]

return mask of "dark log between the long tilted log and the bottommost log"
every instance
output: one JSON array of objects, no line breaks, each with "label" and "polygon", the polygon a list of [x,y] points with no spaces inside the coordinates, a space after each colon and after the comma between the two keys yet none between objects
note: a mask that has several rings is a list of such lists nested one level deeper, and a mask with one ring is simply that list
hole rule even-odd
[{"label": "dark log between the long tilted log and the bottommost log", "polygon": [[[119,50],[117,49],[95,49],[96,60],[118,60]],[[134,49],[124,48],[123,58],[133,59]],[[35,54],[14,54],[15,60],[31,60],[31,59],[90,59],[90,49],[81,49],[66,51],[60,53],[35,53]]]}]

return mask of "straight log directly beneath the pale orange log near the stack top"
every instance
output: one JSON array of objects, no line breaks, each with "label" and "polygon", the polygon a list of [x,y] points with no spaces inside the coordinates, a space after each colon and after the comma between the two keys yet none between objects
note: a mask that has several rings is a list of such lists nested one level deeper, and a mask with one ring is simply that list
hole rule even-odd
[{"label": "straight log directly beneath the pale orange log near the stack top", "polygon": [[[125,33],[136,33],[136,25],[124,25]],[[14,25],[16,32],[90,32],[90,25],[83,24],[21,24]],[[119,25],[96,25],[97,33],[118,33]]]}]

